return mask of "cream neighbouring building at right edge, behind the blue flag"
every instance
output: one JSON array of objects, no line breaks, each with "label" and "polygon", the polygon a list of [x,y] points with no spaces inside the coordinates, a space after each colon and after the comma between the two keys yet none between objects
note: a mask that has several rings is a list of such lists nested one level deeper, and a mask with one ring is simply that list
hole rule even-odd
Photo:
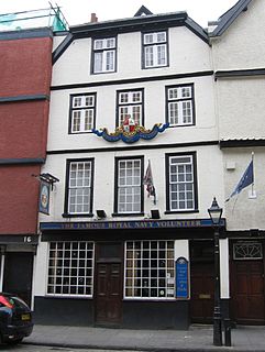
[{"label": "cream neighbouring building at right edge, behind the blue flag", "polygon": [[254,185],[225,202],[230,315],[245,324],[265,323],[264,13],[264,1],[238,1],[210,34],[225,198],[253,161]]}]

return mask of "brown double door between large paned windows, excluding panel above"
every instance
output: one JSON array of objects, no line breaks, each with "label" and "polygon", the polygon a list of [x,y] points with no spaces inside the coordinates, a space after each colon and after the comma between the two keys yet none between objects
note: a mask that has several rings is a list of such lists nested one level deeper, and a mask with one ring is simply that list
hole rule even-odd
[{"label": "brown double door between large paned windows, excluding panel above", "polygon": [[122,317],[121,263],[98,263],[96,323],[119,324]]}]

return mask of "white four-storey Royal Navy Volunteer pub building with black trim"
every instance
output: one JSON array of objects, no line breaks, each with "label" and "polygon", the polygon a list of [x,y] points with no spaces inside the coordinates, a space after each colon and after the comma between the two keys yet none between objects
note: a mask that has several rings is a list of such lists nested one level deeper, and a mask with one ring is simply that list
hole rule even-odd
[{"label": "white four-storey Royal Navy Volunteer pub building with black trim", "polygon": [[[210,322],[207,210],[224,193],[207,32],[186,12],[142,7],[131,19],[73,26],[58,44],[42,172],[60,182],[40,216],[36,321]],[[220,249],[227,305],[225,217]]]}]

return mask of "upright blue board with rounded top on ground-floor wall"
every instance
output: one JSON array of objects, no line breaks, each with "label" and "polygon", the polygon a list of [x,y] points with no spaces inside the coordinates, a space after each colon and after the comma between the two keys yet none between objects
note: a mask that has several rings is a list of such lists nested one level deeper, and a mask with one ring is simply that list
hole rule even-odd
[{"label": "upright blue board with rounded top on ground-floor wall", "polygon": [[176,298],[189,298],[188,261],[184,256],[176,261]]}]

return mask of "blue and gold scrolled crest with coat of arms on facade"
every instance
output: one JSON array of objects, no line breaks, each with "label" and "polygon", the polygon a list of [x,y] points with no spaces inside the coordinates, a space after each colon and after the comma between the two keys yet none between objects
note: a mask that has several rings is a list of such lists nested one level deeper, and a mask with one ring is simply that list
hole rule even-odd
[{"label": "blue and gold scrolled crest with coat of arms on facade", "polygon": [[102,136],[108,142],[123,141],[125,143],[134,143],[139,140],[152,140],[158,133],[164,132],[169,127],[169,123],[156,123],[152,130],[145,130],[144,127],[135,123],[134,119],[128,116],[122,125],[117,128],[113,133],[109,133],[107,129],[92,130],[92,133]]}]

